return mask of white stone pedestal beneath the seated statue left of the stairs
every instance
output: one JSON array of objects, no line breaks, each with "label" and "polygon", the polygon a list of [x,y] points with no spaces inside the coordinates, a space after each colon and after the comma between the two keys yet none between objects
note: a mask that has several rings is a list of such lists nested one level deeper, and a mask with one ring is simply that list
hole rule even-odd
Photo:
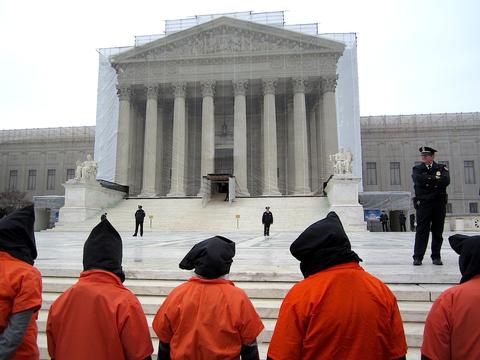
[{"label": "white stone pedestal beneath the seated statue left of the stairs", "polygon": [[99,216],[105,208],[117,204],[125,193],[107,189],[96,181],[67,181],[65,188],[65,206],[60,209],[58,225],[62,223],[83,222],[93,216]]}]

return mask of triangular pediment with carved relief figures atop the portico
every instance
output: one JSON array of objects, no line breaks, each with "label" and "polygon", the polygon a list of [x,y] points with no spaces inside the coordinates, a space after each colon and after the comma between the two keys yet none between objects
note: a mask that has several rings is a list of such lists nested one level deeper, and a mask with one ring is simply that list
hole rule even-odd
[{"label": "triangular pediment with carved relief figures atop the portico", "polygon": [[226,55],[343,53],[344,45],[318,36],[229,17],[176,32],[116,56],[114,63]]}]

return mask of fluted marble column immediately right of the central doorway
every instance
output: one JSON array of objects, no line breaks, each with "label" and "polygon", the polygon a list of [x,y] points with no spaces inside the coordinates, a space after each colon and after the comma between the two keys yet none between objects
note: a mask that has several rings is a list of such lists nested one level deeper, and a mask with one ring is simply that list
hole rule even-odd
[{"label": "fluted marble column immediately right of the central doorway", "polygon": [[245,92],[248,80],[233,83],[235,95],[233,112],[233,174],[237,182],[236,196],[250,196],[247,188],[247,103]]}]

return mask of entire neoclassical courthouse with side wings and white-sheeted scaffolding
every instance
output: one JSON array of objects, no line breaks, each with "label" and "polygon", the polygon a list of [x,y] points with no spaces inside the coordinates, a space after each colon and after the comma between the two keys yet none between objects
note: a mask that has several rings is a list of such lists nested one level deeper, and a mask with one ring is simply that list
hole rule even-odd
[{"label": "entire neoclassical courthouse with side wings and white-sheeted scaffolding", "polygon": [[233,175],[237,196],[321,196],[343,147],[363,191],[412,191],[429,145],[451,171],[448,212],[478,213],[480,113],[360,118],[355,34],[228,15],[101,49],[96,127],[0,131],[0,190],[62,195],[95,154],[130,196],[199,196],[209,174]]}]

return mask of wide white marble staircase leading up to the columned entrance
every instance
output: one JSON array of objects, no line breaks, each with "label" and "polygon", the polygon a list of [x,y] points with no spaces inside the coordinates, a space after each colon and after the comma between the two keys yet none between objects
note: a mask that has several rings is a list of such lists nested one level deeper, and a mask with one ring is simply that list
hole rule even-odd
[{"label": "wide white marble staircase leading up to the columned entrance", "polygon": [[[119,231],[133,231],[138,205],[142,205],[147,214],[145,233],[251,231],[261,227],[261,216],[267,205],[274,214],[277,231],[296,231],[325,217],[329,209],[328,199],[323,196],[236,198],[231,204],[223,200],[224,195],[217,194],[203,207],[201,198],[130,198],[111,208],[103,208],[85,221],[65,222],[60,218],[56,228],[50,231],[90,231],[104,212]],[[149,216],[153,216],[151,225]]]}]

